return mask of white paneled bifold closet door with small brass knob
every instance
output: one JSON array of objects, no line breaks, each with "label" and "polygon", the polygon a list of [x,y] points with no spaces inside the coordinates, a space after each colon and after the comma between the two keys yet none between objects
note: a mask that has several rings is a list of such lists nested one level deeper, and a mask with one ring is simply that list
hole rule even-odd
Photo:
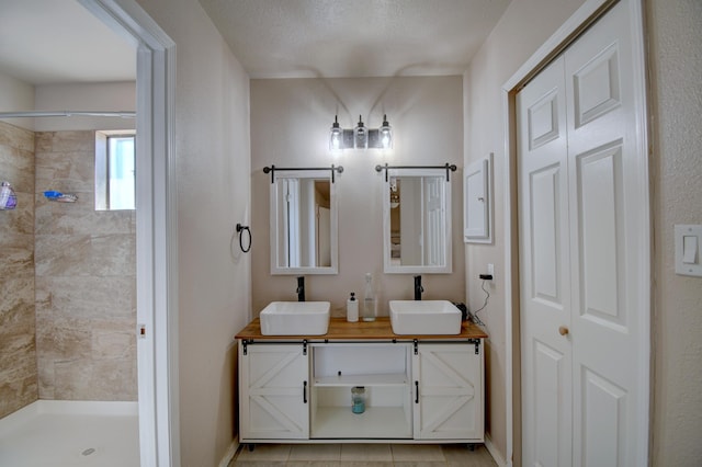
[{"label": "white paneled bifold closet door with small brass knob", "polygon": [[648,180],[631,36],[622,1],[518,94],[524,465],[641,462]]}]

